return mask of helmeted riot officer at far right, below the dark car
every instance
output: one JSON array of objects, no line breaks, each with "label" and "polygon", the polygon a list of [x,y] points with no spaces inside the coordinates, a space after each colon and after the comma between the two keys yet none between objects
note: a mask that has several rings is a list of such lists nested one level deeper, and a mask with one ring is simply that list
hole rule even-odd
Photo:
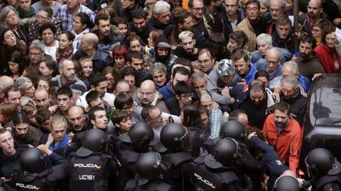
[{"label": "helmeted riot officer at far right, below the dark car", "polygon": [[341,190],[341,164],[324,148],[313,149],[305,157],[313,190]]}]

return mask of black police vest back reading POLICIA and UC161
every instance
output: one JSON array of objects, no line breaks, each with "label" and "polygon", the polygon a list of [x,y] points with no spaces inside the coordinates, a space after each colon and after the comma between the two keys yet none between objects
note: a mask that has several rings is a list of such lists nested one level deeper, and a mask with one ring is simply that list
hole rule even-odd
[{"label": "black police vest back reading POLICIA and UC161", "polygon": [[107,154],[87,157],[74,155],[70,158],[67,170],[70,190],[108,190],[107,178],[112,173],[111,162],[112,156]]}]

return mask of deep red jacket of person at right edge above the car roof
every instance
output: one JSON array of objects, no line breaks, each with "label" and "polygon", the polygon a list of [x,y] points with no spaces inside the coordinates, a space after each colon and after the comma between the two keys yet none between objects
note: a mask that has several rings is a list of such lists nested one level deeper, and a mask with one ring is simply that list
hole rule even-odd
[{"label": "deep red jacket of person at right edge above the car roof", "polygon": [[[337,56],[337,60],[339,61],[339,64],[341,64],[341,57],[337,53],[335,47],[330,50],[330,47],[328,47],[327,43],[323,43],[315,47],[315,52],[318,54],[318,59],[320,60],[323,69],[325,69],[325,73],[327,74],[335,74],[334,69],[334,62],[335,62],[335,54]],[[341,69],[341,66],[340,66]]]}]

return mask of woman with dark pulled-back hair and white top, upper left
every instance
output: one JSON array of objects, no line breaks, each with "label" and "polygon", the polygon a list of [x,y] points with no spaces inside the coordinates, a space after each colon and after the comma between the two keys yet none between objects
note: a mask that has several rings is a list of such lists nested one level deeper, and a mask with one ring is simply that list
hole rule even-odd
[{"label": "woman with dark pulled-back hair and white top, upper left", "polygon": [[89,33],[90,29],[94,27],[94,23],[90,20],[90,17],[86,13],[77,13],[73,18],[72,31],[75,35],[72,45],[75,50],[80,47],[80,40],[85,33]]}]

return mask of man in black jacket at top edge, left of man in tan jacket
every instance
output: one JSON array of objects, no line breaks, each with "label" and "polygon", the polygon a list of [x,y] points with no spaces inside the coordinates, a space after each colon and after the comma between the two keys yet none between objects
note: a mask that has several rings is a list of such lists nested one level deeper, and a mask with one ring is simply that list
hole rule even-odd
[{"label": "man in black jacket at top edge, left of man in tan jacket", "polygon": [[214,33],[223,33],[225,40],[229,39],[229,34],[236,30],[237,25],[245,18],[244,14],[238,10],[237,0],[224,0],[224,8],[215,16]]}]

